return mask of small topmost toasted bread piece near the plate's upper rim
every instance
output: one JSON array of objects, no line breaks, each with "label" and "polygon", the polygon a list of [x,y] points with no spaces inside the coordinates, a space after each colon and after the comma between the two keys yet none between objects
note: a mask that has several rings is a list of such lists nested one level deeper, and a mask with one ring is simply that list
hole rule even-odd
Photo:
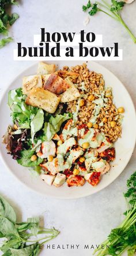
[{"label": "small topmost toasted bread piece near the plate's upper rim", "polygon": [[51,74],[55,72],[55,69],[56,69],[55,64],[46,64],[44,62],[39,62],[37,74],[40,74],[40,75]]}]

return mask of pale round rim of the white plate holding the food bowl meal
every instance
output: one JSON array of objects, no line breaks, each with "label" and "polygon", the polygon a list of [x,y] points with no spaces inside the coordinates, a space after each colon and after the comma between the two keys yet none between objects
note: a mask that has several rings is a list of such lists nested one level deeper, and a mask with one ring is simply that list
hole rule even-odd
[{"label": "pale round rim of the white plate holding the food bowl meal", "polygon": [[[47,63],[52,63],[53,61],[44,61],[44,62],[47,62]],[[58,61],[59,62],[59,61]],[[63,62],[63,61],[62,61]],[[70,60],[68,60],[67,62],[73,62],[73,61],[70,61]],[[82,62],[83,63],[83,61],[79,61],[79,62]],[[107,68],[105,68],[105,66],[103,66],[103,65],[101,65],[101,64],[99,64],[99,63],[97,63],[96,61],[84,61],[84,62],[87,62],[87,64],[88,64],[88,62],[95,62],[95,64],[99,67],[99,68],[102,68],[102,69],[104,69],[105,71],[108,71],[108,73],[109,73],[109,75],[111,74],[112,76],[114,76],[115,77],[115,79],[118,79],[119,81],[120,81],[120,79],[116,76],[116,75],[114,75],[114,73],[112,73],[111,71],[109,71],[109,69],[107,69]],[[3,93],[2,93],[2,96],[1,96],[1,99],[0,99],[0,107],[1,107],[1,104],[2,104],[2,101],[3,101],[3,98],[7,95],[7,92],[8,92],[8,90],[9,90],[9,88],[10,88],[10,86],[11,86],[11,84],[13,84],[17,79],[19,79],[20,78],[20,76],[24,73],[24,72],[27,72],[28,71],[28,69],[31,69],[31,68],[33,68],[33,67],[35,67],[36,66],[36,64],[38,64],[39,63],[39,61],[35,61],[35,63],[33,63],[33,64],[31,64],[31,65],[29,65],[27,68],[25,68],[23,71],[21,71],[12,81],[10,81],[10,83],[7,85],[7,87],[6,87],[6,90],[5,91],[3,91]],[[95,71],[95,70],[94,70]],[[124,84],[122,83],[122,81],[120,81],[120,83],[122,84],[122,86],[123,86],[123,88],[124,88],[124,90],[126,91],[126,93],[129,95],[129,98],[130,98],[130,101],[131,101],[131,104],[132,104],[132,106],[133,106],[133,110],[134,110],[134,114],[135,114],[135,120],[134,120],[134,123],[135,123],[135,125],[136,125],[136,110],[135,110],[135,106],[134,106],[134,102],[133,102],[133,99],[131,98],[131,95],[130,95],[130,93],[129,93],[129,91],[127,91],[127,88],[124,86]],[[131,147],[132,148],[132,150],[131,150],[131,155],[130,155],[130,157],[129,157],[129,159],[128,159],[128,161],[126,162],[126,165],[124,166],[124,168],[123,168],[123,170],[121,171],[121,172],[119,172],[119,174],[118,174],[118,176],[116,176],[113,180],[111,180],[109,183],[108,183],[108,185],[106,184],[106,185],[104,185],[103,187],[98,187],[97,188],[97,191],[91,191],[91,194],[82,194],[82,195],[73,195],[73,197],[71,197],[71,195],[67,195],[67,197],[65,198],[64,196],[61,196],[61,195],[50,195],[50,194],[44,194],[42,191],[38,191],[38,190],[35,190],[35,188],[32,188],[32,187],[29,187],[29,185],[28,184],[25,184],[19,177],[17,177],[16,176],[16,174],[14,173],[14,172],[12,172],[12,170],[9,168],[9,166],[6,164],[6,160],[3,158],[3,156],[2,156],[2,153],[1,153],[1,147],[0,147],[0,158],[1,158],[1,160],[2,160],[2,162],[3,162],[3,165],[5,165],[5,167],[6,167],[6,169],[8,170],[8,172],[9,173],[12,173],[12,175],[14,176],[14,177],[16,177],[16,179],[18,180],[18,181],[20,181],[21,182],[21,184],[23,184],[26,188],[28,188],[28,190],[31,190],[31,191],[33,191],[33,192],[36,192],[37,194],[40,194],[40,195],[45,195],[46,197],[48,197],[48,198],[55,198],[55,199],[64,199],[64,200],[66,200],[66,199],[80,199],[80,198],[84,198],[84,197],[86,197],[86,196],[90,196],[90,195],[93,195],[93,194],[96,194],[96,193],[98,193],[98,192],[100,192],[101,190],[104,190],[106,187],[108,187],[109,185],[111,185],[120,175],[121,175],[121,173],[124,171],[124,169],[126,168],[126,166],[129,164],[129,162],[130,162],[130,159],[131,159],[131,157],[132,157],[132,155],[133,155],[133,151],[134,151],[134,149],[135,149],[135,143],[136,143],[136,133],[135,133],[135,138],[134,138],[134,143],[133,143],[133,146]]]}]

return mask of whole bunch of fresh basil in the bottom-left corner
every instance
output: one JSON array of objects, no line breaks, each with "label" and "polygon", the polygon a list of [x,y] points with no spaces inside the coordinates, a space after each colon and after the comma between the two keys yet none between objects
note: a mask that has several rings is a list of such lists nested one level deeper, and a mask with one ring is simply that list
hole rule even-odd
[{"label": "whole bunch of fresh basil in the bottom-left corner", "polygon": [[[45,236],[43,236],[45,235]],[[2,256],[37,256],[44,243],[59,235],[55,228],[42,229],[39,218],[28,218],[27,222],[16,222],[12,206],[0,196],[0,238]],[[33,236],[36,239],[33,240]],[[40,236],[37,238],[37,236]],[[3,241],[3,238],[6,240]]]}]

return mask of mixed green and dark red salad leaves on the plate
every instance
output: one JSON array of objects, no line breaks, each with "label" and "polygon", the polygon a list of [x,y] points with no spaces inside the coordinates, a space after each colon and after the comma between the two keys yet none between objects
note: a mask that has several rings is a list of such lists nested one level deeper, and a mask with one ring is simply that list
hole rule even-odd
[{"label": "mixed green and dark red salad leaves on the plate", "polygon": [[56,132],[59,132],[63,122],[71,118],[70,113],[51,114],[38,107],[25,103],[27,95],[22,94],[22,88],[9,91],[8,105],[12,110],[13,123],[17,125],[17,131],[9,129],[6,133],[6,142],[9,144],[9,153],[18,164],[27,167],[39,166],[43,159],[37,157],[31,161],[36,152],[36,147],[41,142],[50,141]]}]

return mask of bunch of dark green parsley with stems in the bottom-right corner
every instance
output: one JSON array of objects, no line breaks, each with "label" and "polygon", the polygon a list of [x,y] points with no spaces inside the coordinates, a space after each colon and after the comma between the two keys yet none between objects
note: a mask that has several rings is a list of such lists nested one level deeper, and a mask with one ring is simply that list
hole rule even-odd
[{"label": "bunch of dark green parsley with stems in the bottom-right corner", "polygon": [[93,254],[96,256],[120,256],[127,251],[128,256],[136,253],[136,172],[127,180],[127,192],[124,197],[127,201],[126,218],[118,228],[112,229],[108,239],[99,246]]}]

